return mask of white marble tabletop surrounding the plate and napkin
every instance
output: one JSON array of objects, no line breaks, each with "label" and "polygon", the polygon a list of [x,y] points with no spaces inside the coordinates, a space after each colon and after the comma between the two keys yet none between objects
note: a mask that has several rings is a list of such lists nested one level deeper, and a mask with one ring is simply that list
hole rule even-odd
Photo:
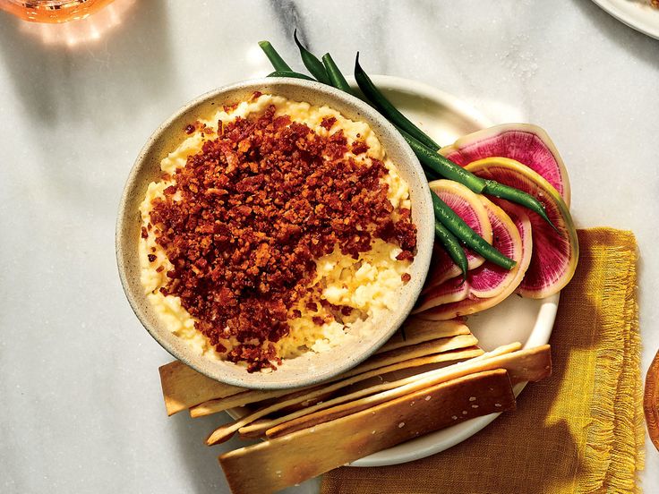
[{"label": "white marble tabletop surrounding the plate and napkin", "polygon": [[[412,77],[495,121],[552,135],[578,226],[633,230],[643,366],[659,348],[659,42],[586,0],[197,2],[141,0],[99,39],[46,44],[0,13],[0,491],[227,492],[217,422],[167,418],[170,357],[134,318],[114,224],[150,132],[200,93],[270,72],[269,38],[296,60],[302,30],[343,67]],[[278,5],[275,7],[275,5]],[[647,448],[646,492],[659,492]],[[295,492],[312,492],[313,482]]]}]

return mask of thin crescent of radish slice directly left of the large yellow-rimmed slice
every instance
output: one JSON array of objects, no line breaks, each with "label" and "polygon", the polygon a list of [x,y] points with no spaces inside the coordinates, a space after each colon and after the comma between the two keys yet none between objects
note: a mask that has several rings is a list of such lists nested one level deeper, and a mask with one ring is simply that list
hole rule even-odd
[{"label": "thin crescent of radish slice directly left of the large yellow-rimmed slice", "polygon": [[[416,315],[416,317],[419,319],[446,320],[453,319],[458,316],[475,314],[476,312],[490,309],[491,307],[494,307],[498,303],[502,302],[518,287],[519,283],[522,281],[526,274],[526,269],[528,268],[529,263],[531,262],[533,248],[531,220],[526,215],[526,209],[520,208],[516,204],[509,203],[505,200],[498,200],[498,202],[501,203],[501,208],[507,209],[506,213],[503,213],[503,211],[499,209],[501,212],[498,216],[501,216],[501,213],[503,213],[503,215],[507,215],[508,221],[512,222],[512,224],[515,226],[515,229],[517,230],[522,247],[521,258],[519,258],[515,268],[511,270],[512,279],[510,280],[509,285],[507,285],[503,290],[501,290],[499,294],[496,294],[495,296],[481,298],[475,296],[475,294],[469,294],[469,296],[462,301],[444,303],[430,310],[420,312]],[[497,206],[494,206],[494,208],[498,209]],[[497,235],[498,232],[495,231],[495,239],[497,238]]]}]

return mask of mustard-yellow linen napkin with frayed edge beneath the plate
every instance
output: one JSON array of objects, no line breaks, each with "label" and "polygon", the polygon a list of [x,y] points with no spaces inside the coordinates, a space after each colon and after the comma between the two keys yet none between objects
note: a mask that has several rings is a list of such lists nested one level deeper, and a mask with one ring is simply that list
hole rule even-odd
[{"label": "mustard-yellow linen napkin with frayed edge beneath the plate", "polygon": [[638,492],[644,428],[630,232],[579,230],[577,273],[561,293],[553,374],[515,412],[438,455],[327,473],[321,493]]}]

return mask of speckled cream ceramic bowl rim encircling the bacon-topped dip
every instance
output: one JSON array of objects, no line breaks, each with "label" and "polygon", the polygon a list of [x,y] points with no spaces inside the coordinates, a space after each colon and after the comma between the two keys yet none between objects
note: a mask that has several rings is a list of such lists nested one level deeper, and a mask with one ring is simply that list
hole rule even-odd
[{"label": "speckled cream ceramic bowl rim encircling the bacon-topped dip", "polygon": [[[167,150],[175,149],[175,145],[184,139],[182,132],[184,123],[193,122],[195,118],[204,115],[208,116],[211,111],[210,105],[227,104],[238,100],[238,98],[245,98],[256,90],[264,93],[282,94],[282,96],[298,101],[309,101],[312,105],[317,106],[327,104],[332,108],[336,108],[347,118],[362,120],[369,124],[373,132],[378,135],[388,155],[394,161],[398,172],[406,179],[410,187],[412,218],[417,228],[417,253],[410,269],[412,279],[400,290],[398,310],[395,312],[388,311],[386,320],[375,319],[372,321],[375,330],[369,341],[359,340],[357,342],[358,352],[347,352],[347,348],[345,348],[347,345],[339,344],[328,352],[307,353],[306,356],[298,357],[303,359],[302,362],[294,363],[298,361],[298,358],[285,361],[278,368],[278,371],[265,374],[260,372],[248,373],[243,367],[236,366],[231,362],[215,361],[194,354],[192,348],[184,340],[164,328],[159,323],[150,302],[143,294],[139,279],[139,256],[137,251],[140,229],[140,215],[137,208],[146,192],[145,184],[158,178],[160,159],[167,155]],[[290,96],[289,91],[301,93],[300,97]],[[305,98],[305,92],[308,93],[307,96],[312,96],[312,98]],[[231,96],[239,93],[243,96]],[[211,379],[217,379],[242,388],[262,389],[297,388],[316,384],[363,362],[397,331],[412,310],[424,285],[432,256],[434,221],[431,192],[426,183],[423,168],[412,149],[409,148],[395,127],[364,101],[338,89],[320,82],[288,78],[240,81],[213,89],[179,108],[165,123],[158,126],[158,129],[150,135],[149,140],[141,149],[133,169],[128,175],[116,220],[116,261],[124,293],[142,326],[147,329],[159,345],[176,359]],[[335,355],[336,358],[331,359],[329,355]],[[327,363],[321,369],[314,362],[302,365],[309,360],[324,360]],[[287,367],[287,364],[291,365]],[[300,367],[302,369],[299,369]]]}]

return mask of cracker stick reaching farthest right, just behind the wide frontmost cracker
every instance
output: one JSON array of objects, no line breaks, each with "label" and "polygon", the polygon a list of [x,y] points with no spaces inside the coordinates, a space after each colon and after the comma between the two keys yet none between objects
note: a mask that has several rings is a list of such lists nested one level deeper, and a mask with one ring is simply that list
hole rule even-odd
[{"label": "cracker stick reaching farthest right, just behind the wide frontmost cracker", "polygon": [[448,382],[451,379],[458,379],[474,372],[492,371],[500,368],[509,372],[510,380],[513,382],[543,379],[552,370],[549,345],[543,345],[531,350],[507,353],[497,357],[484,358],[483,356],[479,360],[473,359],[457,363],[437,371],[428,371],[412,378],[385,382],[370,388],[368,390],[370,391],[369,393],[363,393],[361,395],[359,393],[353,393],[343,396],[346,398],[343,401],[347,403],[343,403],[342,405],[332,406],[331,408],[325,407],[318,412],[308,413],[292,421],[280,423],[272,429],[266,430],[266,436],[269,438],[278,438],[279,436],[295,432],[295,430],[306,429],[319,423],[329,422],[367,408],[372,408],[374,405],[380,405],[381,403],[405,396],[408,393],[428,386]]}]

